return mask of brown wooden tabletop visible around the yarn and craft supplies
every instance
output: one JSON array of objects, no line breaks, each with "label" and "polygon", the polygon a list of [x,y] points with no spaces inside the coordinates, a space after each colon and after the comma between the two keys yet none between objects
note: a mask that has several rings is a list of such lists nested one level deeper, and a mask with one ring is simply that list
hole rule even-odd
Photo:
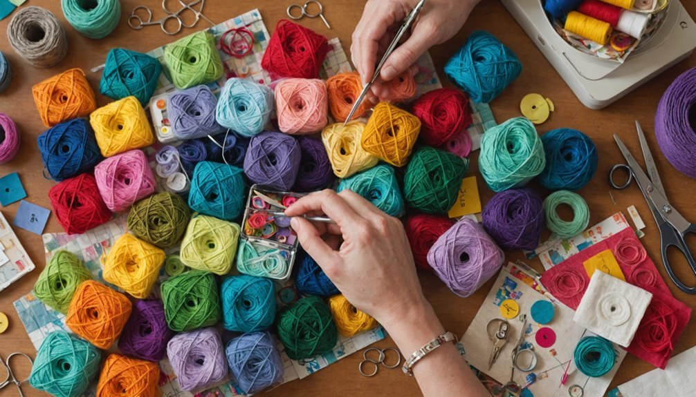
[{"label": "brown wooden tabletop visible around the yarn and craft supplies", "polygon": [[[269,31],[273,31],[276,22],[285,17],[285,8],[288,1],[253,1],[253,0],[208,0],[205,4],[205,15],[222,22],[230,17],[235,17],[253,8],[259,8]],[[0,112],[6,112],[12,117],[22,133],[22,149],[17,158],[0,166],[0,176],[18,171],[28,194],[27,200],[50,208],[48,191],[54,185],[52,180],[42,176],[42,162],[36,146],[36,137],[46,130],[38,112],[35,109],[31,96],[31,87],[45,78],[54,76],[71,67],[81,67],[87,72],[88,80],[93,89],[98,91],[100,74],[89,72],[91,67],[100,65],[106,58],[106,53],[114,47],[125,47],[136,51],[149,51],[155,47],[172,42],[175,38],[193,33],[193,29],[184,29],[176,37],[170,37],[162,33],[157,27],[145,28],[142,31],[134,31],[127,26],[126,17],[135,6],[147,5],[155,10],[155,17],[161,15],[158,0],[122,0],[122,19],[120,25],[109,37],[103,40],[90,40],[79,35],[63,18],[63,13],[58,4],[59,1],[28,1],[27,5],[45,6],[52,10],[68,32],[70,49],[68,56],[57,66],[50,69],[36,69],[19,58],[10,48],[6,35],[3,33],[0,39],[0,50],[6,53],[15,71],[15,76],[10,88],[0,94]],[[333,26],[329,31],[320,19],[304,19],[301,23],[327,37],[340,37],[345,49],[349,49],[351,33],[358,22],[363,9],[363,1],[352,0],[324,0],[324,13],[326,19]],[[696,2],[685,1],[686,8],[691,15],[696,16]],[[10,18],[0,22],[0,31],[5,32]],[[205,28],[206,23],[201,20],[196,28]],[[693,192],[696,181],[679,174],[672,165],[661,155],[656,144],[654,131],[654,115],[658,101],[667,86],[681,72],[696,67],[696,56],[690,56],[679,65],[665,71],[661,76],[654,78],[649,83],[628,94],[624,99],[610,105],[605,110],[596,111],[585,108],[576,99],[569,87],[562,81],[553,67],[537,50],[524,31],[519,27],[507,10],[498,1],[483,0],[477,6],[473,15],[464,26],[464,29],[449,42],[434,47],[430,53],[438,67],[438,73],[443,78],[443,83],[449,85],[444,78],[442,67],[452,56],[452,53],[464,44],[468,34],[475,30],[486,30],[496,35],[500,40],[512,47],[521,59],[524,69],[522,75],[500,96],[491,103],[493,113],[498,122],[520,115],[519,102],[525,94],[538,92],[552,99],[555,103],[555,112],[545,124],[539,126],[539,133],[559,127],[570,127],[582,130],[590,135],[599,149],[599,169],[592,182],[587,185],[580,194],[590,205],[590,224],[597,223],[617,211],[624,211],[629,205],[634,204],[642,215],[647,228],[646,236],[642,239],[650,257],[654,259],[661,275],[667,280],[667,285],[679,300],[696,308],[696,297],[688,296],[680,292],[667,278],[667,273],[660,260],[659,237],[651,214],[638,187],[632,186],[624,191],[612,192],[616,203],[610,198],[610,186],[607,175],[615,162],[621,159],[616,144],[612,140],[612,134],[618,133],[629,146],[629,149],[637,156],[640,154],[638,139],[635,137],[634,120],[638,119],[647,133],[647,140],[656,156],[658,169],[661,171],[663,183],[667,195],[674,206],[687,218],[696,220],[696,207],[693,206]],[[103,96],[98,98],[99,105],[109,102]],[[476,158],[472,156],[472,167],[469,175],[477,174]],[[482,179],[478,178],[482,201],[485,203],[491,198],[492,192],[487,189]],[[17,210],[18,203],[1,208],[2,213],[11,222]],[[627,215],[627,214],[626,214]],[[46,232],[62,231],[55,217],[50,217]],[[10,328],[0,335],[0,355],[6,357],[14,351],[22,351],[34,356],[35,350],[24,332],[13,302],[20,296],[29,292],[45,265],[45,257],[41,238],[25,230],[15,228],[15,233],[21,239],[22,244],[29,251],[29,255],[36,264],[36,269],[8,289],[0,292],[0,311],[5,312],[10,319]],[[507,260],[523,259],[521,252],[507,253]],[[541,264],[537,260],[529,261],[535,268],[541,271]],[[683,262],[679,262],[679,269],[685,269]],[[682,271],[686,280],[694,280],[687,271]],[[476,294],[469,298],[459,298],[452,294],[436,276],[432,274],[420,274],[425,296],[434,305],[436,312],[444,323],[445,329],[462,335],[472,321],[485,296],[491,288],[492,281],[484,285]],[[392,288],[400,288],[394,285]],[[696,344],[696,327],[690,324],[683,333],[679,344],[675,346],[674,353],[680,353]],[[377,343],[377,346],[393,346],[390,339]],[[296,380],[287,385],[278,387],[266,393],[266,396],[331,396],[331,395],[359,395],[359,396],[420,396],[418,385],[413,378],[404,376],[400,370],[380,371],[374,378],[363,378],[358,374],[358,362],[360,354],[351,355],[337,364],[331,365],[318,373],[303,380]],[[631,378],[652,369],[650,364],[642,362],[632,355],[628,355],[621,369],[617,373],[611,388],[620,385]],[[14,387],[8,387],[1,392],[3,396],[17,395]],[[24,387],[26,396],[41,396],[29,386]]]}]

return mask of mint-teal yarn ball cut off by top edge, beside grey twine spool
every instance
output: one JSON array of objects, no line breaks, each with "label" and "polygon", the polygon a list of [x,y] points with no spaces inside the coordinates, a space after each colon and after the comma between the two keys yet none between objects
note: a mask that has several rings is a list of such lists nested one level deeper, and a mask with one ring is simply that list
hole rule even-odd
[{"label": "mint-teal yarn ball cut off by top edge, beside grey twine spool", "polygon": [[61,7],[68,23],[90,39],[108,36],[121,18],[119,0],[61,0]]}]

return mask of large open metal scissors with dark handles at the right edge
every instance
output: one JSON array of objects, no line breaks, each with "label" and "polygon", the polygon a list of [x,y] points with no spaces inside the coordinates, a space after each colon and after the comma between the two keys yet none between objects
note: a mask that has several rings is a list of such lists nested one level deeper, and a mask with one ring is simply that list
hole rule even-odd
[{"label": "large open metal scissors with dark handles at the right edge", "polygon": [[[679,212],[672,207],[670,201],[667,200],[667,195],[665,194],[665,187],[662,185],[660,175],[657,172],[657,167],[655,166],[655,161],[653,160],[652,153],[645,140],[645,135],[640,123],[635,121],[635,127],[638,129],[638,139],[640,140],[640,147],[643,151],[643,157],[645,158],[645,166],[647,167],[648,174],[645,174],[640,165],[631,152],[628,151],[624,142],[616,134],[614,134],[614,140],[616,144],[619,145],[619,150],[624,155],[626,159],[626,164],[616,164],[612,167],[609,172],[609,183],[614,189],[626,189],[631,182],[635,180],[640,187],[645,201],[647,201],[652,212],[655,222],[657,223],[658,230],[660,230],[660,239],[662,246],[662,262],[665,264],[665,269],[670,275],[672,282],[674,282],[679,289],[688,294],[696,294],[696,286],[689,287],[679,280],[676,274],[674,274],[674,269],[670,264],[670,260],[667,257],[667,248],[671,246],[677,248],[686,257],[691,270],[696,274],[696,262],[694,257],[686,244],[686,239],[684,237],[688,233],[696,234],[696,226],[690,223],[684,217],[679,214]],[[623,184],[615,183],[614,173],[617,169],[625,171],[628,177]],[[649,176],[648,176],[649,175]]]}]

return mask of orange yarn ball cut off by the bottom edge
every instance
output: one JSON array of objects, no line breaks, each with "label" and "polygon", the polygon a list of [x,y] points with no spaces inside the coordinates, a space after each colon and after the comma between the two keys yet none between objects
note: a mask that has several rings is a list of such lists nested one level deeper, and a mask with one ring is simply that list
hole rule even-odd
[{"label": "orange yarn ball cut off by the bottom edge", "polygon": [[113,353],[104,360],[97,397],[155,397],[161,393],[159,365]]}]

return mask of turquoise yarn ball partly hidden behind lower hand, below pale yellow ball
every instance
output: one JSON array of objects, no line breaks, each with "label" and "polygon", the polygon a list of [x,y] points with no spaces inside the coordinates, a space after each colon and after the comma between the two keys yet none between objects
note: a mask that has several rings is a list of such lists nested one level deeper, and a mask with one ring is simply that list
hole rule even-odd
[{"label": "turquoise yarn ball partly hidden behind lower hand, below pale yellow ball", "polygon": [[401,195],[394,169],[386,164],[342,179],[338,184],[337,192],[342,192],[345,189],[363,196],[375,207],[392,217],[400,217],[404,213],[404,198]]}]

